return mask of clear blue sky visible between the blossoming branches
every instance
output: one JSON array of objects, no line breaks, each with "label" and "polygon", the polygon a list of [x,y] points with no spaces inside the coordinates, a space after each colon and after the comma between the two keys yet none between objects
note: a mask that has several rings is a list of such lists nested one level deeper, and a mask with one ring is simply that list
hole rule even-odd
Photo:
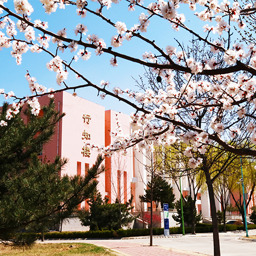
[{"label": "clear blue sky visible between the blossoming branches", "polygon": [[[33,3],[34,12],[32,13],[31,20],[32,22],[35,19],[40,19],[47,21],[49,23],[49,29],[56,33],[58,30],[66,28],[68,30],[68,37],[76,38],[74,34],[74,28],[78,23],[86,25],[89,29],[87,34],[97,34],[100,38],[103,38],[106,42],[107,47],[110,46],[110,40],[113,35],[116,35],[116,29],[106,24],[100,18],[88,13],[86,18],[81,19],[76,15],[76,8],[74,6],[67,6],[65,10],[57,9],[55,13],[46,14],[44,8],[42,8],[39,1],[29,1]],[[146,1],[145,1],[146,2]],[[34,4],[35,3],[35,4]],[[151,3],[145,3],[148,5]],[[14,11],[12,1],[9,1],[6,5]],[[89,2],[89,8],[96,10],[98,5],[95,3]],[[120,9],[121,8],[121,9]],[[178,9],[179,13],[184,11],[186,15],[187,26],[191,26],[193,29],[202,31],[203,23],[196,17],[193,17],[192,12],[184,6]],[[121,10],[121,11],[120,11]],[[124,22],[128,29],[138,24],[138,16],[143,11],[141,8],[136,7],[136,11],[129,12],[127,10],[127,2],[121,1],[120,4],[112,4],[112,7],[109,10],[104,10],[103,15],[111,18],[112,22],[116,23],[118,21]],[[188,15],[188,16],[187,16]],[[13,19],[14,20],[14,19]],[[16,22],[16,20],[14,20]],[[194,22],[194,23],[193,23]],[[3,31],[5,32],[5,31]],[[36,33],[37,36],[38,33]],[[181,43],[184,42],[187,44],[188,40],[191,39],[191,36],[188,35],[184,30],[179,32],[174,31],[170,24],[166,20],[154,17],[151,19],[151,24],[148,27],[148,32],[143,33],[143,35],[149,39],[155,40],[156,44],[165,49],[167,45],[172,45],[177,47],[177,42],[174,38],[178,39]],[[78,36],[77,36],[78,39]],[[86,40],[86,36],[83,37],[83,40]],[[50,50],[55,52],[55,46],[51,45]],[[28,82],[26,81],[25,74],[27,70],[30,72],[31,76],[37,78],[37,82],[46,86],[47,88],[59,89],[59,86],[55,81],[55,73],[49,71],[46,68],[46,63],[51,60],[51,57],[46,53],[31,53],[27,52],[23,54],[22,65],[17,66],[15,58],[10,55],[11,49],[3,49],[0,52],[0,61],[2,63],[0,69],[0,88],[4,88],[5,92],[13,91],[17,96],[26,96],[30,95],[30,90],[28,87]],[[116,49],[117,52],[121,52],[127,55],[132,55],[142,59],[142,54],[147,51],[155,52],[151,46],[146,45],[143,42],[140,42],[137,38],[133,38],[131,41],[124,40],[123,46]],[[113,68],[110,66],[111,55],[104,53],[101,56],[96,56],[94,51],[91,50],[92,57],[88,61],[78,60],[74,63],[74,68],[80,71],[85,77],[91,80],[93,83],[99,84],[100,81],[109,80],[111,83],[111,88],[120,87],[122,89],[130,88],[136,90],[135,88],[135,79],[139,78],[139,75],[143,75],[144,68],[135,63],[118,59],[118,67]],[[60,54],[62,59],[66,59],[67,62],[70,61],[72,54],[68,49],[65,50],[64,54]],[[68,86],[77,86],[82,83],[81,80],[75,79],[74,74],[69,72],[69,78],[67,80]],[[101,100],[100,97],[97,97],[97,91],[95,89],[80,89],[76,91],[78,96],[86,98],[98,104],[105,106],[106,109],[113,109],[115,111],[120,111],[125,114],[130,114],[132,109],[127,108],[127,105],[117,101],[116,99],[107,96],[104,100]],[[3,102],[4,97],[1,96],[0,100]]]}]

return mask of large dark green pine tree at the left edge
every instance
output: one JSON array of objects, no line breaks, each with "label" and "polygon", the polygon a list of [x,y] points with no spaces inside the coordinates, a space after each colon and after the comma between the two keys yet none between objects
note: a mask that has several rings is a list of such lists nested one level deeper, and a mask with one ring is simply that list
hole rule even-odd
[{"label": "large dark green pine tree at the left edge", "polygon": [[97,185],[95,178],[104,168],[102,156],[84,177],[59,176],[66,159],[41,162],[37,155],[54,134],[55,124],[64,116],[54,109],[54,101],[43,106],[42,116],[30,110],[5,119],[5,103],[0,126],[0,241],[26,246],[34,237],[27,230],[44,231],[51,223],[68,218],[77,205],[88,199]]}]

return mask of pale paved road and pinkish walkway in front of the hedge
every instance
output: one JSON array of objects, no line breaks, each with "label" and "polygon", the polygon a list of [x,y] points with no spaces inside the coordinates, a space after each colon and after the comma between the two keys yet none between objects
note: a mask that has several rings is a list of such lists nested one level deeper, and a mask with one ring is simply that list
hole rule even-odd
[{"label": "pale paved road and pinkish walkway in front of the hedge", "polygon": [[[249,230],[249,235],[256,235],[256,230]],[[239,240],[245,232],[220,233],[222,256],[256,256],[256,242]],[[113,240],[58,240],[45,243],[80,242],[91,243],[111,248],[126,256],[194,256],[213,255],[212,233],[202,233],[186,236],[172,236],[169,238],[154,237],[153,247],[149,245],[149,238],[113,239]]]}]

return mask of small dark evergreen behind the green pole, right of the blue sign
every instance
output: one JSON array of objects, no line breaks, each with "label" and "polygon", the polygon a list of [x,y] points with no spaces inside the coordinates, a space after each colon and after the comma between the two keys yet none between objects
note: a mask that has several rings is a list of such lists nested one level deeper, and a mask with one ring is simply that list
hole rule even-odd
[{"label": "small dark evergreen behind the green pole, right of the blue sign", "polygon": [[[190,196],[186,196],[184,199],[182,199],[182,206],[183,206],[184,222],[187,225],[191,226],[193,225],[193,223],[197,224],[202,220],[202,216],[200,214],[197,214],[197,210],[193,202],[193,198],[191,198]],[[175,203],[175,208],[178,211],[178,216],[173,215],[173,219],[181,224],[182,217],[181,217],[181,200],[180,199]],[[194,218],[191,218],[191,212],[193,212]]]}]

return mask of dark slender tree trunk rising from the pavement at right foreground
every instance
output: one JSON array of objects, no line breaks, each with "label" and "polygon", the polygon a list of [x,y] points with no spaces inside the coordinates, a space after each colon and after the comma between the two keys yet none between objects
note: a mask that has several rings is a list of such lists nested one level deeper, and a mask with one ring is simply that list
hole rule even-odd
[{"label": "dark slender tree trunk rising from the pavement at right foreground", "polygon": [[204,174],[206,177],[206,183],[208,187],[209,200],[210,200],[212,233],[214,236],[214,256],[221,256],[218,219],[216,214],[216,204],[215,204],[215,198],[214,198],[214,188],[212,186],[212,181],[210,178],[208,166],[206,165],[205,158],[203,158],[203,164],[204,164],[203,168],[204,168]]}]

